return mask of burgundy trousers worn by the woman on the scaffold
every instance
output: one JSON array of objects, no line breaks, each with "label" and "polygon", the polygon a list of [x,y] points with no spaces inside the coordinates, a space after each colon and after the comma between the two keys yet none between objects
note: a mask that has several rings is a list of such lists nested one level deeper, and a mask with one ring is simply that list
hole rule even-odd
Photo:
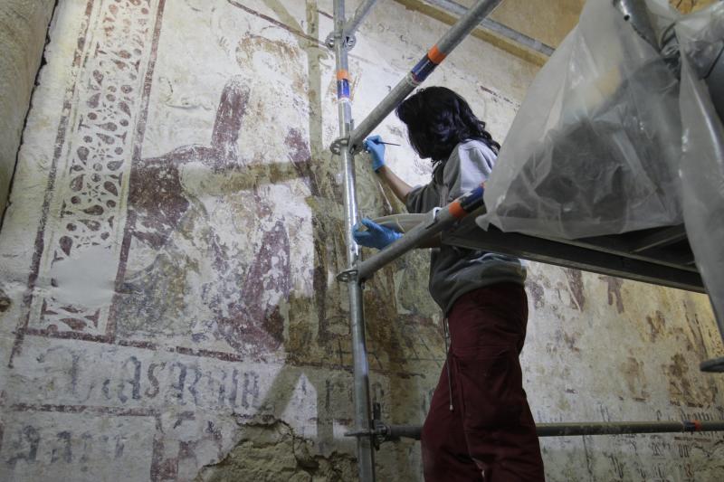
[{"label": "burgundy trousers worn by the woman on the scaffold", "polygon": [[528,298],[515,283],[455,301],[450,352],[421,437],[425,482],[545,480],[519,363],[527,323]]}]

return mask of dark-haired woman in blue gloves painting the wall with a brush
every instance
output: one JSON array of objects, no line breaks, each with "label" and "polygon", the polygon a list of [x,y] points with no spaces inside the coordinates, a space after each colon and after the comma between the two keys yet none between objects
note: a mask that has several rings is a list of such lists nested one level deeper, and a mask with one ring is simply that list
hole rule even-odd
[{"label": "dark-haired woman in blue gloves painting the wall with a brush", "polygon": [[[411,187],[385,165],[385,145],[369,137],[372,168],[410,213],[427,213],[491,174],[500,145],[452,90],[418,90],[396,109],[410,143],[433,161],[433,180]],[[357,243],[384,248],[401,236],[367,219]],[[528,320],[519,260],[452,246],[434,248],[430,293],[451,346],[424,421],[424,478],[436,481],[544,480],[536,427],[522,388],[519,353]]]}]

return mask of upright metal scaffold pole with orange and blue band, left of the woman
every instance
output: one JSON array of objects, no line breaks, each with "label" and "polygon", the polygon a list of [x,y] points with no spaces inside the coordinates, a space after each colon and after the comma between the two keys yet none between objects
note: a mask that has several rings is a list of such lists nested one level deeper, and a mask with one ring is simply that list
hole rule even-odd
[{"label": "upright metal scaffold pole with orange and blue band, left of the woman", "polygon": [[[349,105],[349,74],[347,46],[344,35],[345,3],[334,1],[334,51],[337,63],[337,105],[339,113],[339,135],[348,137],[352,126],[352,109]],[[345,203],[345,241],[347,245],[347,265],[357,264],[359,247],[352,236],[353,226],[357,223],[357,194],[355,192],[355,158],[347,148],[340,149],[344,174]],[[365,343],[365,317],[362,310],[362,288],[357,281],[347,283],[349,294],[349,319],[352,332],[352,356],[354,359],[354,399],[355,431],[371,429],[369,404],[369,367],[367,364],[367,345]],[[370,436],[357,436],[357,463],[359,480],[375,480],[375,458]]]}]

